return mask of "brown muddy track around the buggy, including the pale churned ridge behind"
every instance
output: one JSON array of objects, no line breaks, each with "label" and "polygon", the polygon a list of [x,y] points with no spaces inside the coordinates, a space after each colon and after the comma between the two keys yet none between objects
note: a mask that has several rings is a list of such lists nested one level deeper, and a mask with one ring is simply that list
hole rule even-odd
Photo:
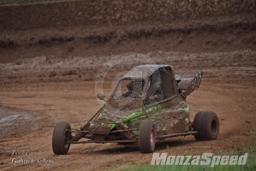
[{"label": "brown muddy track around the buggy, including the pale churned ridge behind", "polygon": [[[138,144],[74,144],[66,156],[55,156],[51,150],[51,134],[57,121],[68,121],[71,127],[79,128],[103,105],[95,96],[101,91],[97,86],[97,74],[100,70],[108,72],[102,86],[108,98],[116,79],[134,65],[147,62],[143,59],[170,64],[176,69],[176,73],[180,74],[204,71],[199,90],[188,97],[190,120],[193,121],[198,111],[211,110],[217,113],[220,121],[220,134],[215,141],[199,142],[193,136],[168,139],[158,143],[156,151],[181,155],[188,151],[195,155],[219,150],[240,150],[244,144],[253,144],[256,140],[256,127],[253,124],[256,120],[253,113],[256,103],[256,63],[253,60],[255,53],[253,50],[213,53],[155,51],[148,54],[92,56],[88,58],[91,62],[83,62],[82,57],[63,59],[45,56],[3,63],[0,104],[15,107],[16,109],[6,111],[12,114],[22,111],[22,115],[11,115],[8,123],[14,123],[15,127],[3,127],[4,133],[7,134],[1,134],[3,140],[0,142],[0,168],[61,170],[65,166],[67,169],[80,170],[86,165],[88,170],[104,170],[116,166],[123,168],[138,163],[148,164],[152,155],[140,154]],[[108,70],[106,67],[110,62],[118,62],[118,65]],[[60,68],[57,67],[58,63],[62,63]],[[79,64],[82,67],[79,67]],[[187,67],[184,68],[184,65]],[[93,71],[92,66],[96,70]],[[37,115],[33,115],[34,113]],[[2,121],[7,115],[3,112],[0,116]],[[27,120],[25,116],[30,119]],[[28,126],[33,127],[27,127],[27,121]],[[18,130],[22,133],[17,132]],[[14,131],[15,135],[12,134]],[[167,146],[169,148],[166,148]],[[13,166],[11,160],[14,157],[10,156],[12,150],[27,151],[29,155],[23,156],[26,159],[45,157],[54,162],[18,163]]]}]

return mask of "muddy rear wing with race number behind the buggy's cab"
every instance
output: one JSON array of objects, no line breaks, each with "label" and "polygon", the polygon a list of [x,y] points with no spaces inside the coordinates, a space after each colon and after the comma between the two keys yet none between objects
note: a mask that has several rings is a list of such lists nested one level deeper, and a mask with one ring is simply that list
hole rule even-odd
[{"label": "muddy rear wing with race number behind the buggy's cab", "polygon": [[201,80],[203,77],[203,72],[200,71],[194,77],[184,77],[182,75],[176,74],[176,81],[178,83],[178,90],[183,91],[184,97],[188,97],[193,91],[199,88]]}]

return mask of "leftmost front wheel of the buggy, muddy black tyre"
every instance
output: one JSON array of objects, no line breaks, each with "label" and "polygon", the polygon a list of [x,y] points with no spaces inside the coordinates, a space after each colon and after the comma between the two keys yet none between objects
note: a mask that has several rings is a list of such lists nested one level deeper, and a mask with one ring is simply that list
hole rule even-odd
[{"label": "leftmost front wheel of the buggy, muddy black tyre", "polygon": [[56,155],[65,155],[68,153],[70,144],[68,141],[72,138],[69,123],[65,121],[58,121],[54,127],[52,134],[52,150]]}]

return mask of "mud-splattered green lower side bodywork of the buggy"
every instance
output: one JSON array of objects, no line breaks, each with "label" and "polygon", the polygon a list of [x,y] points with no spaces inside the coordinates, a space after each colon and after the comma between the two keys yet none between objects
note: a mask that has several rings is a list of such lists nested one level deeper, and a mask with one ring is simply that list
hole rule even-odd
[{"label": "mud-splattered green lower side bodywork of the buggy", "polygon": [[[100,112],[101,114],[98,115],[98,118],[108,112],[108,110],[104,111],[103,107],[102,112]],[[158,135],[164,135],[166,133],[180,133],[188,131],[188,127],[186,127],[188,123],[183,123],[185,118],[188,118],[188,116],[188,104],[185,102],[185,99],[179,95],[167,99],[163,103],[158,103],[149,107],[143,107],[143,104],[141,103],[141,107],[137,109],[137,111],[134,111],[122,120],[107,125],[101,122],[101,124],[96,125],[96,127],[104,127],[103,129],[106,130],[104,133],[107,134],[110,133],[110,131],[113,130],[118,123],[123,123],[129,128],[133,128],[140,126],[141,121],[150,119],[156,123]],[[91,127],[94,126],[95,123],[92,121]],[[94,133],[98,134],[99,132],[95,131]],[[133,133],[137,134],[138,131],[134,131]]]}]

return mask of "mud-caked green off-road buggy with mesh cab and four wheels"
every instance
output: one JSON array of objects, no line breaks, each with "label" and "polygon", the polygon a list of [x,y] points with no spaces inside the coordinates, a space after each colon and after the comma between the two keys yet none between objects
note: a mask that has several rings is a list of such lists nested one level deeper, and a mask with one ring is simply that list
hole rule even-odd
[{"label": "mud-caked green off-road buggy with mesh cab and four wheels", "polygon": [[189,121],[186,97],[199,88],[202,76],[199,72],[183,78],[168,65],[132,68],[107,101],[103,94],[97,95],[106,103],[80,130],[71,129],[65,121],[57,122],[53,152],[64,155],[70,144],[139,142],[140,151],[148,153],[157,141],[170,137],[193,134],[197,140],[217,139],[219,121],[214,112],[200,111]]}]

